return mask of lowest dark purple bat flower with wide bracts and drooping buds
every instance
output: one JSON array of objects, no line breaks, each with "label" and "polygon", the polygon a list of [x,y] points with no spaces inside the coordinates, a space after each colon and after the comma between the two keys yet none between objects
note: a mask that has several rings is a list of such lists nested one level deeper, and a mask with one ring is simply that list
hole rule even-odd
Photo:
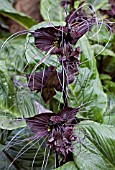
[{"label": "lowest dark purple bat flower with wide bracts and drooping buds", "polygon": [[72,141],[76,140],[73,134],[75,115],[79,108],[65,108],[59,113],[41,113],[31,118],[25,118],[28,128],[35,138],[48,136],[47,147],[52,148],[63,160],[72,152]]}]

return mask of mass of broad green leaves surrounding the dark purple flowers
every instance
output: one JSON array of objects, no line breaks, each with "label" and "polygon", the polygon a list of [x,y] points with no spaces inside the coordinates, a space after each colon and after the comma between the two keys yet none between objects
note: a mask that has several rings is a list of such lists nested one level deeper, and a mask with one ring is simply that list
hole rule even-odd
[{"label": "mass of broad green leaves surrounding the dark purple flowers", "polygon": [[[87,0],[97,12],[100,8],[107,7],[108,1]],[[55,3],[52,0],[41,0],[41,14],[46,22],[35,25],[35,21],[25,14],[17,12],[11,4],[1,1],[0,14],[7,16],[20,23],[25,28],[35,30],[40,27],[48,27],[52,24],[62,25],[64,16],[63,10],[59,6],[60,0]],[[79,2],[75,3],[75,7]],[[57,7],[59,8],[57,10]],[[50,16],[51,14],[51,16]],[[99,14],[100,16],[100,14]],[[68,87],[69,106],[78,107],[82,105],[77,117],[86,119],[75,127],[74,133],[77,136],[73,142],[74,161],[68,162],[57,170],[114,170],[115,169],[115,54],[113,52],[114,35],[105,26],[97,32],[97,27],[87,36],[83,36],[78,43],[82,51],[80,55],[79,75],[73,84]],[[109,39],[111,35],[111,39]],[[109,39],[109,43],[108,43]],[[4,42],[0,39],[0,45]],[[100,43],[98,43],[100,42]],[[106,46],[107,45],[107,46]],[[106,48],[105,48],[106,46]],[[96,56],[96,58],[95,58]],[[31,93],[27,88],[25,78],[26,73],[31,73],[36,64],[44,57],[34,45],[33,38],[28,34],[8,43],[0,52],[0,169],[7,170],[11,161],[18,156],[15,164],[10,169],[31,169],[32,161],[40,144],[33,143],[27,145],[25,150],[32,146],[27,152],[20,155],[21,149],[28,144],[23,142],[16,144],[4,152],[19,131],[18,142],[31,136],[30,132],[23,129],[26,123],[19,118],[32,117],[38,113],[35,102],[42,101],[40,95]],[[101,63],[101,67],[100,67]],[[56,56],[47,56],[42,64],[37,68],[49,65],[58,66]],[[101,68],[101,71],[100,71]],[[60,69],[60,67],[58,67]],[[60,103],[61,93],[57,93],[54,98],[54,110],[57,112],[57,105]],[[17,142],[17,141],[16,141]],[[45,144],[37,154],[34,170],[41,169],[44,159]],[[47,169],[54,167],[53,155],[49,157]]]}]

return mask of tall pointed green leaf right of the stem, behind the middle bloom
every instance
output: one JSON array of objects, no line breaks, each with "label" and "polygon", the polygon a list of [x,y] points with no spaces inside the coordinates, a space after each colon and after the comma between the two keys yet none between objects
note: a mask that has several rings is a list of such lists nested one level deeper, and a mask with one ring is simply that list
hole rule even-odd
[{"label": "tall pointed green leaf right of the stem, behind the middle bloom", "polygon": [[71,93],[73,93],[73,95],[70,95],[70,104],[72,107],[83,104],[81,115],[101,122],[103,120],[102,115],[107,107],[107,96],[103,92],[99,79],[94,52],[85,36],[79,40],[78,45],[82,51],[80,55],[81,64],[76,80],[70,85]]}]

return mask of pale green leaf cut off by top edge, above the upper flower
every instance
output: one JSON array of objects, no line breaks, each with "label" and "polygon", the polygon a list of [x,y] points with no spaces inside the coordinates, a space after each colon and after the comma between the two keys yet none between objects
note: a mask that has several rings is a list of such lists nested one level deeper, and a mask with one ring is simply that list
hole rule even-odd
[{"label": "pale green leaf cut off by top edge, above the upper flower", "polygon": [[40,12],[44,20],[63,21],[64,10],[60,6],[61,0],[41,0]]}]

